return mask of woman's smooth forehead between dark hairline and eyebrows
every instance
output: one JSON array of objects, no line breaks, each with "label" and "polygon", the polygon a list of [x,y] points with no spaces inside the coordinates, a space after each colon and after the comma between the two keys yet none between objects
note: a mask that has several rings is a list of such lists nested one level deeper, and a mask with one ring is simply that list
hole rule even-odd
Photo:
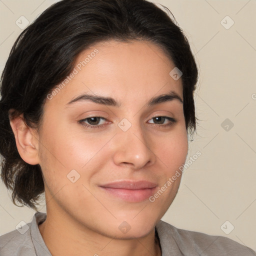
[{"label": "woman's smooth forehead between dark hairline and eyebrows", "polygon": [[137,97],[146,100],[157,92],[170,90],[182,98],[181,79],[174,80],[169,74],[174,67],[163,50],[152,42],[104,41],[78,54],[69,79],[54,100],[66,104],[72,97],[86,92],[120,101]]}]

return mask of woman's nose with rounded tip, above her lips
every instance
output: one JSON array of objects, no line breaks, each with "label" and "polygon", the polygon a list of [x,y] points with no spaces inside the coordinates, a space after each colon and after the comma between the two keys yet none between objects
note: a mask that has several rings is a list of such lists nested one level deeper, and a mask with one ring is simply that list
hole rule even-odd
[{"label": "woman's nose with rounded tip, above her lips", "polygon": [[116,165],[141,169],[156,160],[152,140],[140,125],[133,124],[127,131],[119,129],[115,135],[113,161]]}]

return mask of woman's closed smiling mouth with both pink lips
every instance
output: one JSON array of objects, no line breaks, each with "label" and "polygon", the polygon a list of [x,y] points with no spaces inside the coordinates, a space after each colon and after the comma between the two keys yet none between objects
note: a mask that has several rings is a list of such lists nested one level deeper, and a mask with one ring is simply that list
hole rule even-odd
[{"label": "woman's closed smiling mouth with both pink lips", "polygon": [[117,181],[99,186],[107,195],[128,202],[140,202],[148,199],[156,190],[157,184],[141,181]]}]

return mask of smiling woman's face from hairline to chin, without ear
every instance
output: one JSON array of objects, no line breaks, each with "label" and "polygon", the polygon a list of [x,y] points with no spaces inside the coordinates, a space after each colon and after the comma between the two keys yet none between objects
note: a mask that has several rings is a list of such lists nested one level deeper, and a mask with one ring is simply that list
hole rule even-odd
[{"label": "smiling woman's face from hairline to chin, without ear", "polygon": [[[181,176],[168,180],[187,154],[181,78],[169,74],[174,67],[145,41],[110,40],[79,54],[68,82],[48,95],[38,135],[48,214],[65,213],[81,228],[117,238],[154,228]],[[177,97],[152,101],[170,93]],[[141,180],[151,188],[106,188]]]}]

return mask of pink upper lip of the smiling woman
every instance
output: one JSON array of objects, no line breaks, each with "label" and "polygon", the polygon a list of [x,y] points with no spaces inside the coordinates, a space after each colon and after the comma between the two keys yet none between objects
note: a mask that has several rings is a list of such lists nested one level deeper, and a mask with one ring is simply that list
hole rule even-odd
[{"label": "pink upper lip of the smiling woman", "polygon": [[110,182],[100,186],[136,190],[136,189],[143,189],[143,188],[153,188],[153,187],[156,187],[156,184],[146,180],[138,180],[138,181],[124,180],[124,181]]}]

